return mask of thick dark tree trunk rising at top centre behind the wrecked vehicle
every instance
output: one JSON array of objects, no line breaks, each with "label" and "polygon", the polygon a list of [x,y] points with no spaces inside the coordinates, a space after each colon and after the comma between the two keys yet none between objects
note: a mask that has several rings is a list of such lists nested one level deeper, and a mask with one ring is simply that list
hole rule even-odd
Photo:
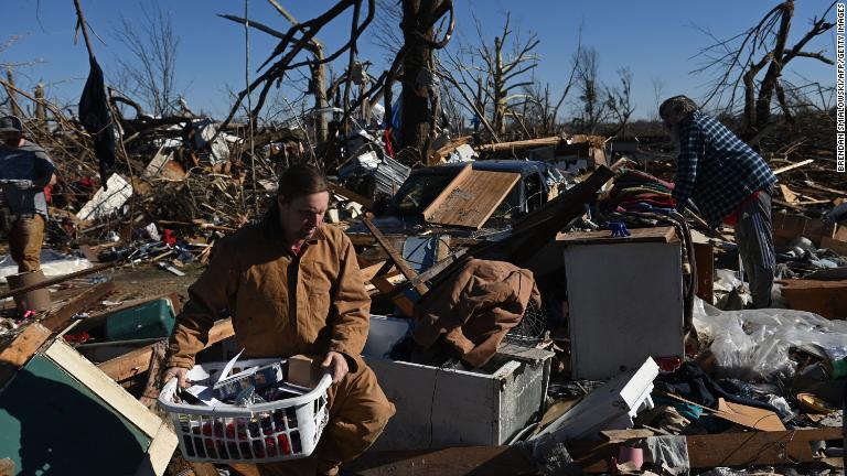
[{"label": "thick dark tree trunk rising at top centre behind the wrecked vehicle", "polygon": [[[421,159],[429,156],[427,138],[429,136],[430,115],[429,93],[427,85],[419,79],[421,71],[432,68],[432,47],[415,34],[416,31],[426,37],[432,37],[432,28],[424,30],[441,0],[403,0],[403,37],[409,52],[403,62],[403,98],[400,144],[420,151]],[[430,73],[431,75],[431,73]],[[390,110],[390,105],[386,109]]]}]

